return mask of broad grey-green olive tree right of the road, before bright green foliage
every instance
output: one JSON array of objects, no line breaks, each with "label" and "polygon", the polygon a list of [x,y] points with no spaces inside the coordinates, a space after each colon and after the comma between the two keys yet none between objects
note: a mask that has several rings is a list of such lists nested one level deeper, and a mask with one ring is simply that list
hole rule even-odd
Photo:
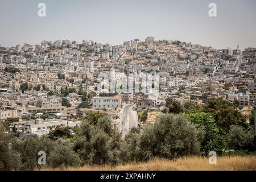
[{"label": "broad grey-green olive tree right of the road, before bright green foliage", "polygon": [[155,125],[147,125],[141,134],[141,159],[200,154],[203,137],[204,131],[182,115],[161,114]]}]

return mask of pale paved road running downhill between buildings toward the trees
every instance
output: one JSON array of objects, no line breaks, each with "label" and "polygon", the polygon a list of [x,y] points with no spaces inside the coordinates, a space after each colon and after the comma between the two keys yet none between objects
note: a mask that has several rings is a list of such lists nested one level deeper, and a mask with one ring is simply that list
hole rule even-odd
[{"label": "pale paved road running downhill between buildings toward the trees", "polygon": [[133,104],[125,105],[121,110],[120,132],[126,135],[132,127],[137,127],[138,116],[133,110]]}]

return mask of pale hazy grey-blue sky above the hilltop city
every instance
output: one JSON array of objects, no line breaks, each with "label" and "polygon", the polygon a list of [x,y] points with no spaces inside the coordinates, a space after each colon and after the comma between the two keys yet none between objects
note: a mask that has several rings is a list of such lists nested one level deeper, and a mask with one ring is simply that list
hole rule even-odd
[{"label": "pale hazy grey-blue sky above the hilltop city", "polygon": [[[38,3],[46,3],[46,17]],[[208,5],[217,4],[217,17]],[[42,40],[173,39],[214,48],[256,47],[255,0],[1,0],[0,44]]]}]

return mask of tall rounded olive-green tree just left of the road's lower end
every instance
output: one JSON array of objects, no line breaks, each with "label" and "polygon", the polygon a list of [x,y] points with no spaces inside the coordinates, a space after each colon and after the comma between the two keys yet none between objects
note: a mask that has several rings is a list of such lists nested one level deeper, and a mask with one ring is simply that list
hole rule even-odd
[{"label": "tall rounded olive-green tree just left of the road's lower end", "polygon": [[75,151],[82,164],[117,164],[120,162],[121,137],[113,129],[110,119],[98,112],[94,114],[89,114],[81,123],[75,137]]}]

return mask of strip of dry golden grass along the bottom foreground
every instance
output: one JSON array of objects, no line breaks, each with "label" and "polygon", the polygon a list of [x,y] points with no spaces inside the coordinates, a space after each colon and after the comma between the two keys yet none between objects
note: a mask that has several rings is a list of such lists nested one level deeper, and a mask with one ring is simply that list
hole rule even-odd
[{"label": "strip of dry golden grass along the bottom foreground", "polygon": [[191,170],[234,170],[243,171],[250,170],[256,171],[256,157],[255,156],[222,156],[217,158],[216,165],[210,165],[208,162],[209,158],[203,158],[198,156],[179,158],[176,160],[167,159],[153,159],[146,163],[130,163],[126,165],[119,165],[115,167],[111,166],[84,166],[78,168],[44,168],[41,170],[82,170],[82,171],[101,171],[101,170],[155,170],[155,171],[191,171]]}]

